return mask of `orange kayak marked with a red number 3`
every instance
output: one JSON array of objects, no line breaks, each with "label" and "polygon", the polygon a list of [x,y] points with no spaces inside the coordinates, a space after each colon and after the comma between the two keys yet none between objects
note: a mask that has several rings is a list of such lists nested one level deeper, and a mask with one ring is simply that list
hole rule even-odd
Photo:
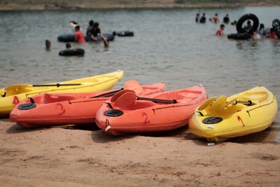
[{"label": "orange kayak marked with a red number 3", "polygon": [[[165,83],[141,86],[137,81],[127,81],[139,95],[151,95],[165,90]],[[45,93],[29,97],[15,106],[10,120],[25,127],[42,125],[87,124],[95,122],[99,107],[120,90],[87,93]]]}]

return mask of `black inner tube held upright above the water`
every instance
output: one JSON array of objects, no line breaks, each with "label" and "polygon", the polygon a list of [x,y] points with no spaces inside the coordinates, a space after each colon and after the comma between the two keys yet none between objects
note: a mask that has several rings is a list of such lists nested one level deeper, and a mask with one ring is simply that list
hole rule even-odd
[{"label": "black inner tube held upright above the water", "polygon": [[[252,20],[253,21],[253,26],[249,29],[244,29],[242,27],[243,23],[246,22],[246,20]],[[248,32],[253,34],[253,32],[255,32],[258,29],[258,17],[248,13],[246,15],[243,15],[241,18],[239,18],[238,22],[237,22],[237,32],[239,33],[244,33],[244,32]]]}]

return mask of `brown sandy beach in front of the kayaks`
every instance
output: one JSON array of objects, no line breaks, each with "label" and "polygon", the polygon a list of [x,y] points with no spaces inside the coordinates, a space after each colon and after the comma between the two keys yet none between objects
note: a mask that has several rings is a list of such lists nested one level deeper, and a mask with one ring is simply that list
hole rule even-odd
[{"label": "brown sandy beach in front of the kayaks", "polygon": [[0,120],[1,186],[279,186],[280,144],[264,134],[207,146],[186,127],[124,137],[94,128]]}]

